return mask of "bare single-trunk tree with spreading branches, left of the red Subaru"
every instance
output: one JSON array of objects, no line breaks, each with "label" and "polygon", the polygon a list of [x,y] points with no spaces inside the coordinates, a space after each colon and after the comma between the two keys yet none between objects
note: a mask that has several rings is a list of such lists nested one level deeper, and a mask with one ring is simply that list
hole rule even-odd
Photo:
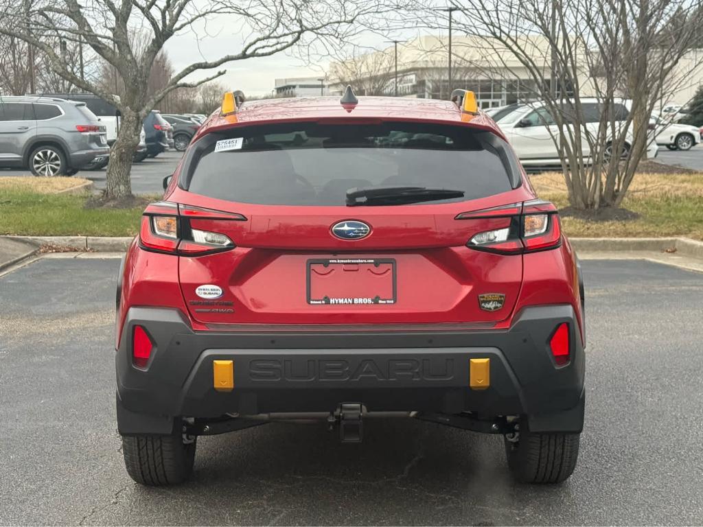
[{"label": "bare single-trunk tree with spreading branches, left of the red Subaru", "polygon": [[[46,54],[51,67],[80,89],[96,93],[115,105],[122,114],[117,141],[112,147],[107,171],[106,197],[131,196],[129,172],[139,141],[143,118],[162,98],[176,89],[198,86],[224,74],[219,70],[194,78],[201,70],[216,70],[236,60],[270,56],[311,39],[344,42],[359,32],[364,22],[380,13],[390,15],[394,7],[377,0],[314,0],[270,2],[266,0],[0,0],[0,34],[26,41]],[[150,94],[148,80],[153,63],[174,35],[198,31],[213,19],[227,20],[243,36],[242,46],[214,60],[200,60],[175,72],[166,86]],[[148,31],[143,50],[134,46],[130,34]],[[96,82],[81,79],[48,44],[58,37],[81,38],[98,56],[127,80],[123,96]],[[332,44],[330,44],[332,45]]]}]

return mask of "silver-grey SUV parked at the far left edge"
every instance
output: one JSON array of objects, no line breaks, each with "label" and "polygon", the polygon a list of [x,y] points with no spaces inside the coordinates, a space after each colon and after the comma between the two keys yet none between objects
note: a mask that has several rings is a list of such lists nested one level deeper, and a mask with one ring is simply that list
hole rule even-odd
[{"label": "silver-grey SUV parked at the far left edge", "polygon": [[109,155],[105,126],[85,103],[0,96],[0,167],[29,168],[34,176],[71,176]]}]

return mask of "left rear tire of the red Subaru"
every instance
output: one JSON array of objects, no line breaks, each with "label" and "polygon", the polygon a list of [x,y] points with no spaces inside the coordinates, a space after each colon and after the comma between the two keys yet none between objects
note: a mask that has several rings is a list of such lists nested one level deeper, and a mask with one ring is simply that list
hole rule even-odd
[{"label": "left rear tire of the red Subaru", "polygon": [[141,485],[183,483],[193,474],[196,441],[193,438],[193,443],[183,443],[181,434],[122,436],[124,467]]}]

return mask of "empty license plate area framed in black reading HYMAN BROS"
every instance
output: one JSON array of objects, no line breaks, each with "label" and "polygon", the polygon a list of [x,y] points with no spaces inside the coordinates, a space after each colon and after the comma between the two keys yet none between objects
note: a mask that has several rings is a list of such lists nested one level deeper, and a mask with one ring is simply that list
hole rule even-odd
[{"label": "empty license plate area framed in black reading HYMAN BROS", "polygon": [[329,258],[307,261],[308,304],[363,306],[396,303],[392,258]]}]

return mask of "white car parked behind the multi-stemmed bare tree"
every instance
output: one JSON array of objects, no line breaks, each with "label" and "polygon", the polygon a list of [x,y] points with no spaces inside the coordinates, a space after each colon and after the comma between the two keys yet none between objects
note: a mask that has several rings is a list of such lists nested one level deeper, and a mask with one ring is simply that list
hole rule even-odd
[{"label": "white car parked behind the multi-stemmed bare tree", "polygon": [[[586,129],[595,136],[600,126],[601,105],[598,100],[591,98],[581,99],[581,105],[586,119]],[[615,122],[623,122],[629,112],[628,101],[616,103],[612,111]],[[510,140],[512,148],[515,148],[525,168],[540,169],[561,164],[559,150],[553,141],[553,136],[558,136],[558,128],[553,116],[550,115],[549,108],[544,103],[519,105],[512,112],[503,115],[497,123]],[[610,130],[608,133],[610,134]],[[623,156],[627,155],[632,143],[632,134],[629,131],[626,141],[625,151],[621,152]],[[657,145],[652,141],[647,146],[647,157],[656,157],[657,151]],[[583,141],[583,156],[588,158],[590,154],[588,142]],[[610,138],[607,139],[604,154],[606,157],[612,155]]]}]

